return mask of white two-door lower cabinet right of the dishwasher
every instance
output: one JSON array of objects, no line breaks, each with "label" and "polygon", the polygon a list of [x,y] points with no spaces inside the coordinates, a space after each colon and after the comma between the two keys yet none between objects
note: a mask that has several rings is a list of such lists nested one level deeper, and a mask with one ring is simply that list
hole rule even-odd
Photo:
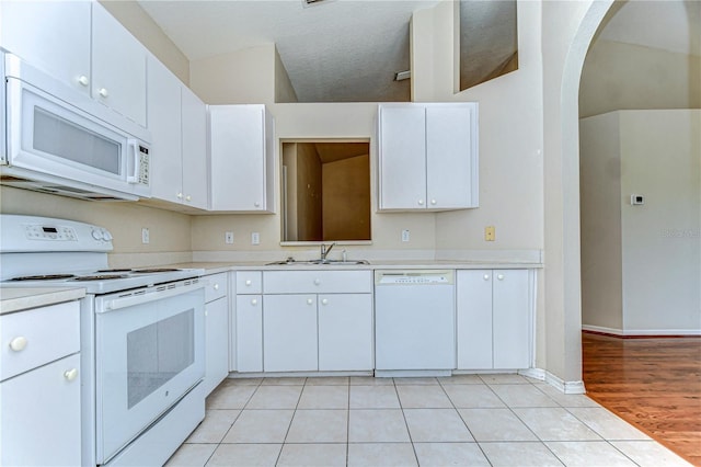
[{"label": "white two-door lower cabinet right of the dishwasher", "polygon": [[531,270],[458,271],[458,369],[531,366]]}]

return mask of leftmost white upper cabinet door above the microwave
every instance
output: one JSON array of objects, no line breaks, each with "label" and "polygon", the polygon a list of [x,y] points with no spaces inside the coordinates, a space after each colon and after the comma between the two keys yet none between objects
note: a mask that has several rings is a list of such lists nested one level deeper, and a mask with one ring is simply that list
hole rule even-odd
[{"label": "leftmost white upper cabinet door above the microwave", "polygon": [[90,1],[2,1],[2,48],[89,94]]}]

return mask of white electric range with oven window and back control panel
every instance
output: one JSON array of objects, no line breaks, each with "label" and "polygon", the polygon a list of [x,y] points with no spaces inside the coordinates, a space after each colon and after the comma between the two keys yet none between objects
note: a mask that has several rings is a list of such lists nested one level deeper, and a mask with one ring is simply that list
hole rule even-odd
[{"label": "white electric range with oven window and back control panel", "polygon": [[81,464],[162,465],[205,415],[204,271],[110,269],[112,249],[103,227],[0,215],[0,285],[85,288]]}]

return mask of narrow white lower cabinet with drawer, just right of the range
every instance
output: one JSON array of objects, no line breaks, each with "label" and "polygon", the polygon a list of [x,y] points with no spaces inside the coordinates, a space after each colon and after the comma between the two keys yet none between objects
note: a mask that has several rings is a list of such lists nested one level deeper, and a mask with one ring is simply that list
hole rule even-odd
[{"label": "narrow white lower cabinet with drawer, just right of the range", "polygon": [[205,289],[205,394],[229,375],[228,273],[212,274]]}]

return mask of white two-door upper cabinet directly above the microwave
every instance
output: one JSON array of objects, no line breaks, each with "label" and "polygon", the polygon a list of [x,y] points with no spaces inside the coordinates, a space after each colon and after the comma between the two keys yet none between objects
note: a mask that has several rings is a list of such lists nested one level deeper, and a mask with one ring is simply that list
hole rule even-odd
[{"label": "white two-door upper cabinet directly above the microwave", "polygon": [[0,46],[146,126],[146,47],[97,2],[2,1]]}]

